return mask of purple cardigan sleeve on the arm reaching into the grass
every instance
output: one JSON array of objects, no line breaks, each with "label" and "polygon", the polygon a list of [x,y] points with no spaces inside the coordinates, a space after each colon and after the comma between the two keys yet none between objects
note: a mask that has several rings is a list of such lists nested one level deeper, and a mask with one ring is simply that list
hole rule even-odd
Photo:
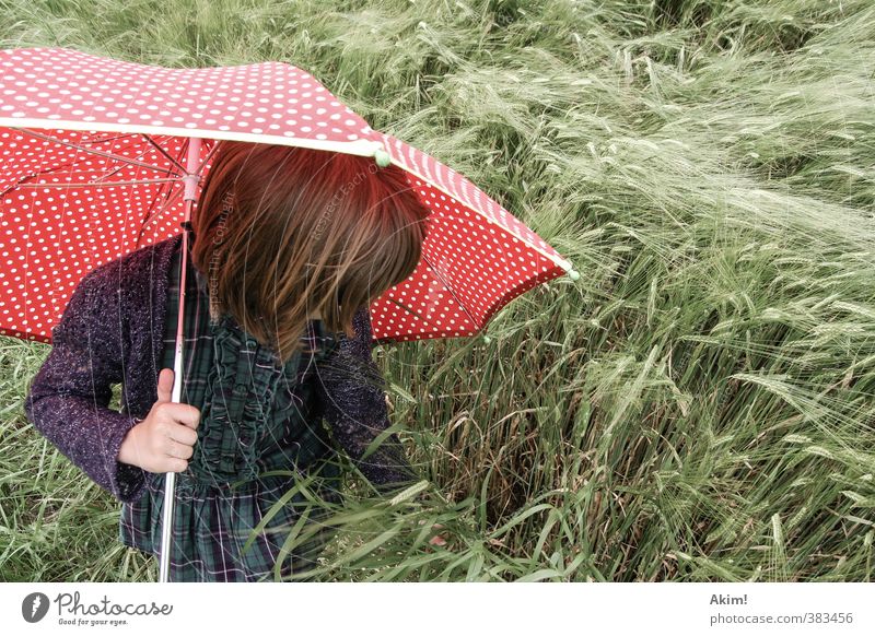
[{"label": "purple cardigan sleeve on the arm reaching into the grass", "polygon": [[[366,307],[352,320],[357,337],[339,334],[339,346],[316,368],[317,393],[338,444],[381,494],[411,485],[417,475],[395,434],[375,440],[389,427],[385,385],[371,357]],[[371,452],[369,446],[374,444]]]}]

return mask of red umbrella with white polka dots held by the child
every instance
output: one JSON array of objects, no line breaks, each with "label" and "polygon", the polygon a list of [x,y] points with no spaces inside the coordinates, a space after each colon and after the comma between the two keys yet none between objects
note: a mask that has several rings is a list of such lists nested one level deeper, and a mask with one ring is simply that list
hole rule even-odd
[{"label": "red umbrella with white polka dots held by the child", "polygon": [[[470,180],[372,129],[292,64],[163,68],[68,48],[5,49],[0,334],[50,343],[85,274],[176,235],[221,140],[372,156],[404,168],[430,209],[428,236],[416,271],[369,307],[377,342],[474,335],[534,286],[564,273],[579,278]],[[177,402],[182,314],[180,299]],[[161,580],[168,572],[175,473],[166,476]]]}]

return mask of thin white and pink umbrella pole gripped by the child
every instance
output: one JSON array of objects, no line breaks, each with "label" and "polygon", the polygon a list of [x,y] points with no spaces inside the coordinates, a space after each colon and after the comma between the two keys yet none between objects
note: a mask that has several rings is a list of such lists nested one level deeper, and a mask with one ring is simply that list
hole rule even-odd
[{"label": "thin white and pink umbrella pole gripped by the child", "polygon": [[[200,139],[192,137],[188,141],[188,156],[185,181],[185,221],[191,217],[191,205],[197,198],[198,175],[195,174],[200,162]],[[186,272],[188,270],[188,231],[183,232],[183,254],[179,264],[179,311],[176,319],[176,354],[173,361],[173,393],[171,400],[179,402],[183,394],[183,318],[185,316]],[[173,537],[173,507],[176,502],[176,473],[165,473],[164,510],[161,526],[161,557],[159,562],[159,582],[170,581],[171,541]]]}]

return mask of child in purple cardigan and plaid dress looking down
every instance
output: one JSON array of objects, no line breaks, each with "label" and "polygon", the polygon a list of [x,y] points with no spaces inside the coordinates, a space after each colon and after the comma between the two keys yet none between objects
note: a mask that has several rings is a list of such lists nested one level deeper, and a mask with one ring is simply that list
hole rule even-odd
[{"label": "child in purple cardigan and plaid dress looking down", "polygon": [[[319,523],[301,492],[287,493],[306,481],[337,500],[338,448],[382,493],[416,479],[395,435],[363,457],[388,426],[368,306],[412,273],[427,216],[395,166],[220,142],[187,228],[180,402],[171,401],[177,235],[82,279],[27,417],[122,503],[120,539],[147,553],[161,549],[164,473],[178,473],[171,580],[272,578],[301,515]],[[283,495],[272,531],[243,550]],[[281,574],[314,567],[326,540],[315,533]]]}]

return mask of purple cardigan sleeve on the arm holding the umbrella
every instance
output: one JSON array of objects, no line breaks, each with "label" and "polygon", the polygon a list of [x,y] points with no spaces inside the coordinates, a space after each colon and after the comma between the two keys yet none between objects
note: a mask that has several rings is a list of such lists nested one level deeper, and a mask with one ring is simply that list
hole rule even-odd
[{"label": "purple cardigan sleeve on the arm holding the umbrella", "polygon": [[121,280],[118,261],[89,272],[51,331],[51,351],[25,398],[30,422],[121,502],[144,486],[144,471],[118,461],[125,435],[140,422],[108,408],[122,380]]}]

